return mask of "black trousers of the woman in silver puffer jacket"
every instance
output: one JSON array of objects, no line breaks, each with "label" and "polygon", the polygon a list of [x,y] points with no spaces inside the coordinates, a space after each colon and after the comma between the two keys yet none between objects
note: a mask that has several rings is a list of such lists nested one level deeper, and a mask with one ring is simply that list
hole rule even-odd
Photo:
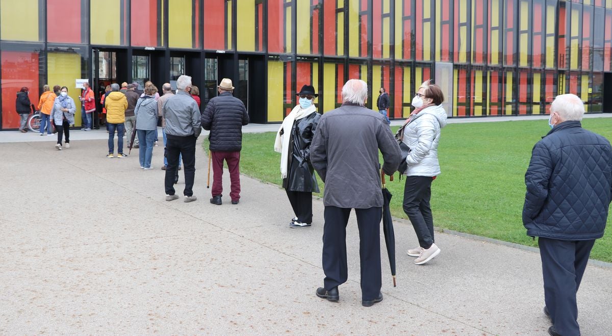
[{"label": "black trousers of the woman in silver puffer jacket", "polygon": [[410,218],[414,233],[422,248],[430,248],[434,242],[433,216],[431,215],[431,181],[430,176],[406,176],[404,187],[404,212]]}]

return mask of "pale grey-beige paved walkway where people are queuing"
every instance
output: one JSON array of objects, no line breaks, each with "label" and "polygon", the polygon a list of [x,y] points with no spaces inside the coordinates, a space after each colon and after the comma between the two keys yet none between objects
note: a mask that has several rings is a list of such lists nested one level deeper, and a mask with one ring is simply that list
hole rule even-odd
[{"label": "pale grey-beige paved walkway where people are queuing", "polygon": [[[51,139],[0,143],[0,334],[547,334],[535,252],[438,233],[441,255],[416,266],[404,254],[414,231],[397,220],[398,286],[383,253],[384,301],[365,308],[352,215],[334,304],[315,297],[321,201],[311,228],[291,229],[285,192],[242,176],[240,204],[212,205],[199,150],[198,201],[166,202],[162,170],[140,170],[137,151],[106,159],[105,140],[79,133],[95,134],[75,131],[64,151]],[[159,168],[161,146],[153,159]],[[610,334],[611,279],[588,266],[583,335]]]}]

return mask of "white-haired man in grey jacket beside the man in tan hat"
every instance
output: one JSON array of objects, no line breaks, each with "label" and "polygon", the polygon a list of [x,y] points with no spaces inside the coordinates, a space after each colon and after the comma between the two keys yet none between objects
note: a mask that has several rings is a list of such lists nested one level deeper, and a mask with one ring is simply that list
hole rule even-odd
[{"label": "white-haired man in grey jacket beside the man in tan hat", "polygon": [[165,156],[168,159],[165,179],[166,201],[179,198],[174,193],[173,185],[181,155],[185,168],[184,201],[192,202],[197,199],[196,196],[193,196],[195,141],[200,136],[202,129],[200,125],[200,109],[189,94],[191,86],[191,77],[181,75],[176,80],[176,94],[170,95],[168,100],[163,103],[162,115],[166,132]]}]

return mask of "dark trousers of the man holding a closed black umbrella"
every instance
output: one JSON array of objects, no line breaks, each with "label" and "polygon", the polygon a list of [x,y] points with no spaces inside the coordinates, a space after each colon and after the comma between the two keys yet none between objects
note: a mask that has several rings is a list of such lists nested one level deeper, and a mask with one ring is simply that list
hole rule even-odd
[{"label": "dark trousers of the man holding a closed black umbrella", "polygon": [[[381,290],[380,224],[382,207],[355,209],[359,227],[359,259],[361,266],[362,300],[373,300]],[[324,287],[329,291],[348,279],[346,266],[346,224],[350,208],[326,206],[323,226]]]}]

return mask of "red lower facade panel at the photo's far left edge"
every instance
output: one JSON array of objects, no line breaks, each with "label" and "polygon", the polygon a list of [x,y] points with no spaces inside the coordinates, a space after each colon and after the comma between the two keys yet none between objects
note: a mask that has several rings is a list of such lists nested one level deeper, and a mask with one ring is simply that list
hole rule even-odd
[{"label": "red lower facade panel at the photo's far left edge", "polygon": [[1,51],[0,78],[2,78],[2,129],[19,128],[20,116],[15,110],[17,92],[23,86],[29,89],[30,102],[39,101],[39,55],[20,51]]}]

